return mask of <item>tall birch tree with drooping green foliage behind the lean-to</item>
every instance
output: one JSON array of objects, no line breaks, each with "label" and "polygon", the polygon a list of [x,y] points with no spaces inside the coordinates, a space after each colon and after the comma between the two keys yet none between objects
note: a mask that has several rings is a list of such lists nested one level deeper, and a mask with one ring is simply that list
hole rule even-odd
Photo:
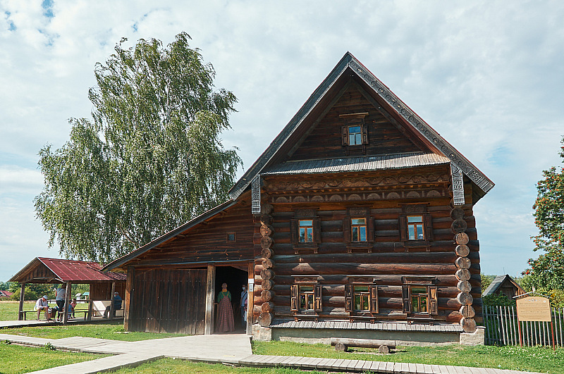
[{"label": "tall birch tree with drooping green foliage behind the lean-to", "polygon": [[219,134],[236,99],[188,39],[122,39],[94,69],[92,120],[71,118],[68,142],[39,151],[35,210],[61,254],[111,261],[228,198],[242,161]]}]

